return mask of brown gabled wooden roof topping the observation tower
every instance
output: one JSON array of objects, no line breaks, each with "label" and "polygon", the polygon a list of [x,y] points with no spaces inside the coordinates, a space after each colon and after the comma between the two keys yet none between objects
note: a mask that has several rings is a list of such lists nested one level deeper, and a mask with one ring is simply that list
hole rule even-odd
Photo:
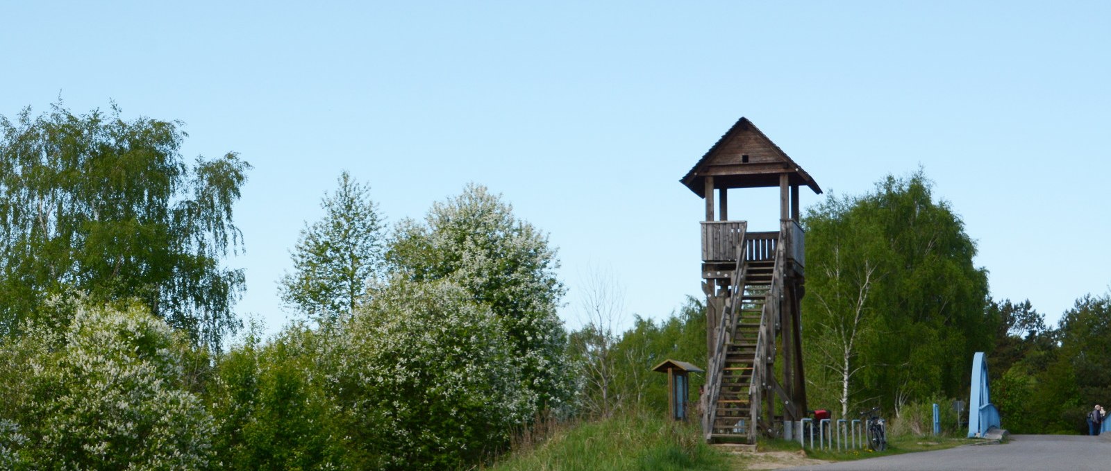
[{"label": "brown gabled wooden roof topping the observation tower", "polygon": [[713,177],[713,188],[763,188],[779,187],[779,176],[783,173],[790,178],[790,184],[804,184],[821,194],[821,187],[810,173],[752,121],[741,117],[679,181],[704,198],[705,177]]}]

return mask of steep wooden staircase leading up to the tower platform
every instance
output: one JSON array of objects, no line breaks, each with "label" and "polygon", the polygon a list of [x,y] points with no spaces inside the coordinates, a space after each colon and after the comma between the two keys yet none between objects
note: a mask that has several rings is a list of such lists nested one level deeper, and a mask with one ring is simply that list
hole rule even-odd
[{"label": "steep wooden staircase leading up to the tower platform", "polygon": [[750,398],[752,374],[760,333],[760,319],[771,290],[773,260],[751,260],[744,262],[739,275],[740,288],[729,300],[729,308],[740,302],[735,327],[724,344],[724,361],[717,374],[720,390],[713,404],[713,423],[708,438],[715,443],[747,443],[753,435],[753,411]]}]

